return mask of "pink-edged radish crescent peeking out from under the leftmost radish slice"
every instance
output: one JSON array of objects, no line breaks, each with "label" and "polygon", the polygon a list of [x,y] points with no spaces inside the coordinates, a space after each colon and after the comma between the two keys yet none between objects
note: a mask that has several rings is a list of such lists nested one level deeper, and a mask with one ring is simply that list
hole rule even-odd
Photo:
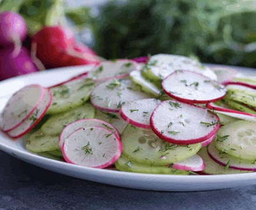
[{"label": "pink-edged radish crescent peeking out from under the leftmost radish slice", "polygon": [[[44,103],[44,104],[38,105],[38,108],[40,106],[43,106],[42,113],[40,113],[40,116],[38,116],[38,118],[33,123],[31,123],[30,126],[26,126],[25,129],[23,128],[23,124],[25,124],[27,121],[30,121],[30,119],[25,120],[19,127],[16,127],[16,129],[10,130],[8,133],[6,133],[9,137],[11,137],[13,139],[16,139],[16,138],[20,138],[20,137],[26,135],[44,117],[45,113],[47,112],[47,110],[48,110],[48,108],[49,108],[49,106],[51,105],[51,102],[52,102],[51,91],[49,91],[47,88],[45,90],[46,90],[45,91],[45,98],[41,102],[41,103]],[[32,115],[30,115],[30,116],[32,116]]]}]

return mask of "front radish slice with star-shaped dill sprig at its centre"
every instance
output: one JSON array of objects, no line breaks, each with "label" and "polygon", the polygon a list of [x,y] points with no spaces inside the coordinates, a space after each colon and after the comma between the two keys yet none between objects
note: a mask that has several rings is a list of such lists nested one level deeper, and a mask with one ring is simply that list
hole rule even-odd
[{"label": "front radish slice with star-shaped dill sprig at its centre", "polygon": [[76,130],[62,147],[65,160],[81,166],[106,168],[115,163],[122,153],[120,139],[102,127]]}]

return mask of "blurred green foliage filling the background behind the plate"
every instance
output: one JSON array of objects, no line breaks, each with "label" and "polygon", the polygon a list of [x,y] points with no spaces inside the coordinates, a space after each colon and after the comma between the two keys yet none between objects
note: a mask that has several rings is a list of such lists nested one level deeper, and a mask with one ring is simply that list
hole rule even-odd
[{"label": "blurred green foliage filling the background behind the plate", "polygon": [[0,0],[0,12],[22,14],[31,35],[68,24],[107,59],[168,53],[256,67],[255,0],[111,0],[76,8],[69,1]]}]

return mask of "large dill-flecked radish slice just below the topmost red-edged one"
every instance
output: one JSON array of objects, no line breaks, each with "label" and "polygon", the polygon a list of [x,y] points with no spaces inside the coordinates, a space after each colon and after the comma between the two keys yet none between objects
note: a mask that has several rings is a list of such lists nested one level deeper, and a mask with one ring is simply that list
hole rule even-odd
[{"label": "large dill-flecked radish slice just below the topmost red-edged one", "polygon": [[163,101],[150,119],[151,128],[162,140],[173,144],[201,143],[219,129],[219,117],[207,109],[177,102]]}]

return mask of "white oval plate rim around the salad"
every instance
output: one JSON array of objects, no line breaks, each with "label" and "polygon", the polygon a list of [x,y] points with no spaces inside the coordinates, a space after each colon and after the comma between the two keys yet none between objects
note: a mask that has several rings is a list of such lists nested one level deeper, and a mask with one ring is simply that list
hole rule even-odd
[{"label": "white oval plate rim around the salad", "polygon": [[[0,112],[2,111],[10,94],[27,84],[38,83],[43,86],[50,86],[68,79],[70,76],[84,72],[86,69],[90,69],[90,67],[66,67],[2,81],[0,83]],[[236,69],[240,72],[256,75],[256,72],[254,72],[253,69],[240,67],[236,67]],[[21,139],[10,140],[10,138],[6,137],[2,133],[0,133],[0,150],[33,165],[52,170],[57,173],[62,173],[63,175],[143,190],[199,191],[256,184],[256,173],[211,176],[150,175],[76,166],[31,154],[25,150]]]}]

